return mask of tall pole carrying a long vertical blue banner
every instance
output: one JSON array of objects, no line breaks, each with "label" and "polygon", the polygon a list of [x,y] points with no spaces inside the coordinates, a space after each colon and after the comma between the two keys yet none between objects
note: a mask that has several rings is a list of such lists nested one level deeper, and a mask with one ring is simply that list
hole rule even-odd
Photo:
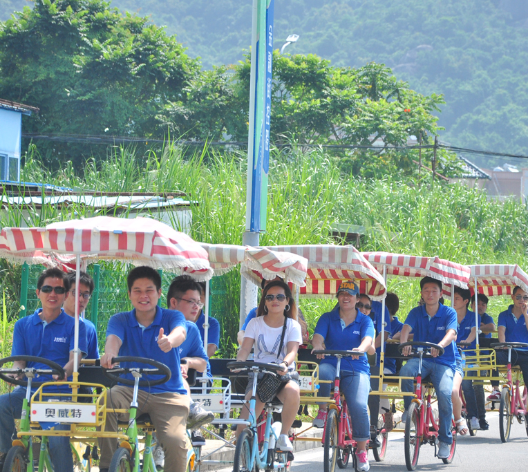
[{"label": "tall pole carrying a long vertical blue banner", "polygon": [[[253,0],[246,223],[242,244],[258,246],[266,230],[267,173],[270,167],[274,0]],[[240,323],[256,307],[256,286],[241,279]]]}]

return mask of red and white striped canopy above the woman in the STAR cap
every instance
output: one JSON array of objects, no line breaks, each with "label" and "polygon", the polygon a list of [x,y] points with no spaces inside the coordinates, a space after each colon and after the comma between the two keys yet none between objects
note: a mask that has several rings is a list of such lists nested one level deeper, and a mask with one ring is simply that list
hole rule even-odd
[{"label": "red and white striped canopy above the woman in the STAR cap", "polygon": [[383,299],[386,285],[383,277],[353,246],[292,245],[270,246],[274,252],[290,252],[308,259],[306,285],[300,295],[332,296],[342,281],[355,280],[361,293]]}]

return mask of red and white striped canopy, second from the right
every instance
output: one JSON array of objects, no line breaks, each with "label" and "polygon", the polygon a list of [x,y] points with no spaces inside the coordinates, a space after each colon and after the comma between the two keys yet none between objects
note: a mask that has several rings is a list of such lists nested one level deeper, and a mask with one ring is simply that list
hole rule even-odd
[{"label": "red and white striped canopy, second from the right", "polygon": [[[362,252],[365,258],[383,274],[391,276],[425,277],[439,280],[446,287],[451,284],[467,288],[471,276],[468,265],[446,261],[438,256],[422,257],[406,254],[391,254],[390,252]],[[451,296],[451,290],[444,290],[444,294]]]}]

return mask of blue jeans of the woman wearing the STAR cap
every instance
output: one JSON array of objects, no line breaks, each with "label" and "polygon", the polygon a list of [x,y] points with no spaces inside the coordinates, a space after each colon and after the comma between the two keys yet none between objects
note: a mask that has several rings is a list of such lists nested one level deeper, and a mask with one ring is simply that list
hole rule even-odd
[{"label": "blue jeans of the woman wearing the STAR cap", "polygon": [[[335,380],[336,368],[332,364],[319,364],[319,379]],[[330,396],[330,384],[319,384],[319,395]],[[352,439],[366,441],[370,439],[368,424],[368,393],[370,377],[361,372],[341,370],[341,392],[345,395],[350,421],[352,422]]]}]

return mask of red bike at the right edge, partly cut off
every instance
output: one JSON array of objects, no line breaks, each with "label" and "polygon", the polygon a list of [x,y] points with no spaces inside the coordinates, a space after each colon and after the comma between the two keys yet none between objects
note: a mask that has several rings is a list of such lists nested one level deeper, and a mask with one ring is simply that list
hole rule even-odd
[{"label": "red bike at the right edge, partly cut off", "polygon": [[513,383],[511,377],[511,350],[515,348],[528,348],[528,343],[493,343],[490,347],[494,349],[508,350],[508,367],[506,372],[507,381],[506,384],[502,386],[499,410],[500,440],[502,442],[507,442],[509,440],[513,417],[517,418],[519,424],[525,422],[526,433],[528,434],[528,390],[525,384],[521,395],[520,375],[517,376],[515,383]]}]

